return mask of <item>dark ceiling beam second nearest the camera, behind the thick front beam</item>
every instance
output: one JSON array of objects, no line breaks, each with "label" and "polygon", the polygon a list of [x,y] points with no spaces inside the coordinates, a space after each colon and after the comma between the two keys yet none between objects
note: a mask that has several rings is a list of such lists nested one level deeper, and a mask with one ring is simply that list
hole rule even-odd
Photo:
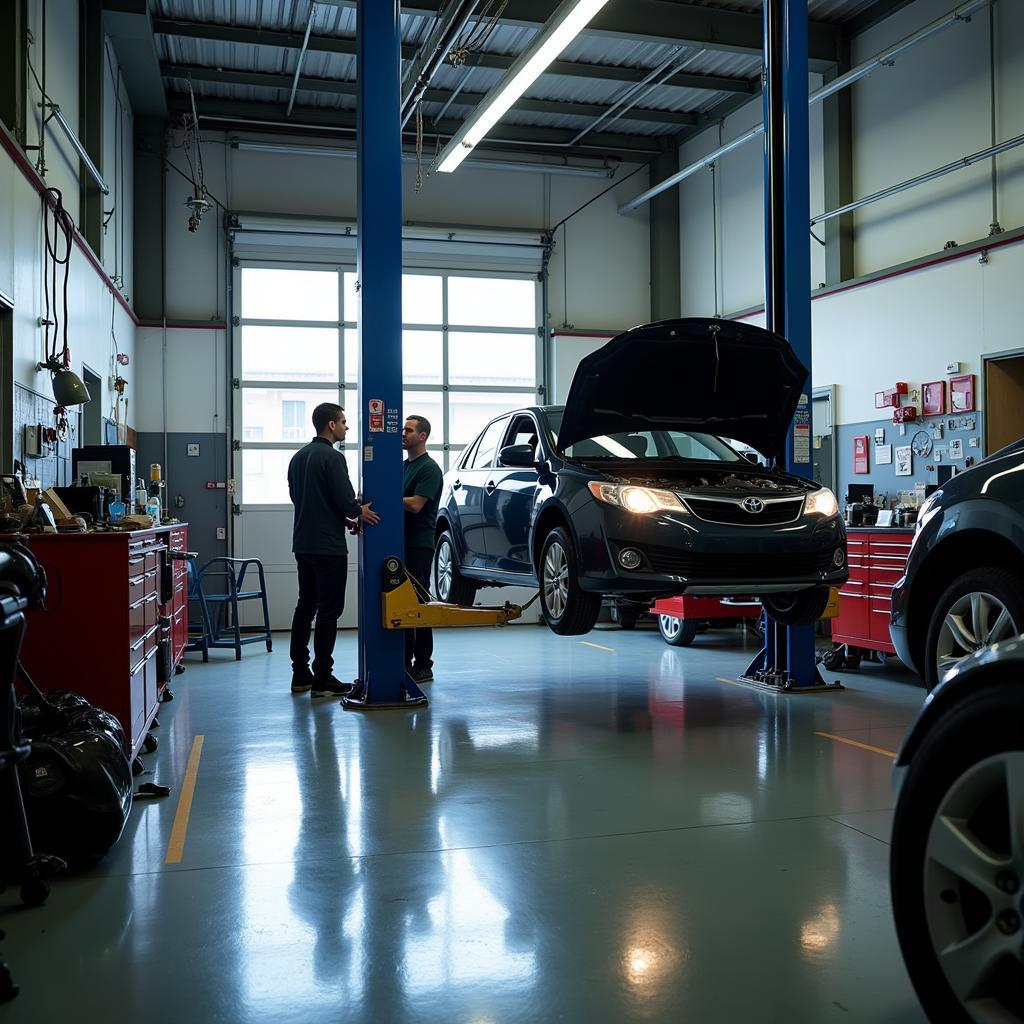
[{"label": "dark ceiling beam second nearest the camera, behind the thick front beam", "polygon": [[[188,39],[207,39],[212,42],[238,43],[246,46],[274,46],[280,49],[299,49],[302,34],[278,32],[270,29],[251,29],[231,25],[213,25],[206,22],[179,22],[171,18],[156,18],[154,31],[162,36],[178,36]],[[355,56],[354,38],[310,35],[308,49],[325,53],[343,53]],[[417,47],[402,46],[403,60],[412,60]],[[467,67],[489,68],[506,71],[512,67],[515,56],[506,53],[473,53]],[[545,74],[565,75],[570,78],[607,79],[614,82],[640,82],[648,74],[649,68],[629,68],[614,65],[594,65],[582,60],[554,60]],[[709,92],[760,92],[757,79],[739,78],[729,75],[699,75],[680,72],[673,75],[665,85],[681,89],[703,89]]]}]

